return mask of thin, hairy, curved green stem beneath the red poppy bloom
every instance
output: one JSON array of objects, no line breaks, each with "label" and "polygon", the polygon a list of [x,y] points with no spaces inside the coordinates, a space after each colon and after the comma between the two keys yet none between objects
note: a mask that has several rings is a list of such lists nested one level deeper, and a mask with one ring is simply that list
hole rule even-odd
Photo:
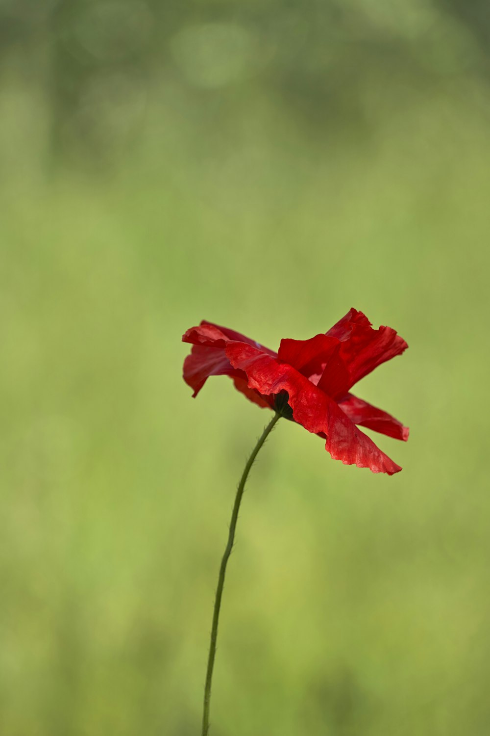
[{"label": "thin, hairy, curved green stem beneath the red poppy bloom", "polygon": [[240,508],[240,502],[242,500],[243,491],[245,490],[245,483],[248,478],[248,473],[250,473],[251,467],[253,465],[253,461],[256,459],[257,453],[259,452],[260,448],[262,447],[265,440],[267,439],[267,436],[273,430],[275,422],[277,422],[279,419],[281,419],[281,414],[274,414],[273,418],[270,420],[269,424],[267,425],[267,427],[264,429],[261,436],[259,437],[259,441],[257,442],[256,446],[253,448],[252,454],[249,457],[247,464],[245,465],[245,470],[243,471],[242,478],[240,479],[240,482],[238,484],[237,495],[235,496],[235,503],[233,506],[233,512],[231,514],[228,542],[226,543],[225,553],[223,554],[223,559],[221,560],[220,575],[217,578],[215,609],[213,612],[213,620],[212,620],[212,628],[211,628],[211,646],[209,647],[208,668],[206,670],[206,685],[204,686],[204,710],[203,710],[202,736],[207,736],[207,733],[209,731],[209,702],[211,701],[212,670],[215,665],[217,624],[220,618],[221,596],[223,595],[223,584],[225,583],[226,565],[228,563],[228,559],[231,554],[231,549],[233,548],[235,528],[237,527],[237,519],[238,519],[239,508]]}]

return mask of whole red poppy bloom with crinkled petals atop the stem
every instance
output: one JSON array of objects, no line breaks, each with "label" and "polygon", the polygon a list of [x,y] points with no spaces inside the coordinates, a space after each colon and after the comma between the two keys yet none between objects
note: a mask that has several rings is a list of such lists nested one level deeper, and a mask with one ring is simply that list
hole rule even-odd
[{"label": "whole red poppy bloom with crinkled petals atop the stem", "polygon": [[356,425],[403,440],[408,427],[350,393],[354,383],[408,347],[392,328],[373,330],[362,312],[351,309],[325,334],[281,340],[278,353],[211,322],[190,328],[182,340],[192,343],[184,381],[194,396],[210,375],[229,375],[254,403],[323,437],[334,459],[373,473],[401,470]]}]

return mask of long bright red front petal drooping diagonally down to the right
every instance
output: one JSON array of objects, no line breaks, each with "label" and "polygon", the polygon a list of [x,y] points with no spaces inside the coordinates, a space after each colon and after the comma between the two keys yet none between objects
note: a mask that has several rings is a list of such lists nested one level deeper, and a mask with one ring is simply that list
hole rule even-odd
[{"label": "long bright red front petal drooping diagonally down to the right", "polygon": [[313,434],[325,434],[325,449],[334,459],[346,465],[369,467],[373,473],[392,475],[401,470],[356,428],[331,397],[289,364],[279,363],[257,348],[239,342],[228,342],[226,354],[234,368],[248,375],[250,388],[260,394],[286,391],[294,420]]}]

